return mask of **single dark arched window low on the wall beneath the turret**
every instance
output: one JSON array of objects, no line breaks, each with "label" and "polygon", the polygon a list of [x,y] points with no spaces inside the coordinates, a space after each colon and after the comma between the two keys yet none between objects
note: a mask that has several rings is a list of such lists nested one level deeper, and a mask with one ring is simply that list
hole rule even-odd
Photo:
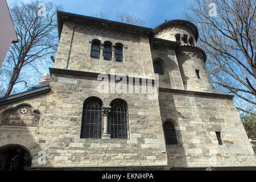
[{"label": "single dark arched window low on the wall beneath the turret", "polygon": [[164,122],[163,130],[164,137],[166,138],[166,144],[177,144],[174,124],[170,121]]}]

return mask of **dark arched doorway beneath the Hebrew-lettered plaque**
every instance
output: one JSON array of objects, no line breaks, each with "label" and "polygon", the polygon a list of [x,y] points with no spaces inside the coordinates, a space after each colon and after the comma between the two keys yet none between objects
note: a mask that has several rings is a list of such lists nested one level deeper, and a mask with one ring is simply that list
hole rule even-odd
[{"label": "dark arched doorway beneath the Hebrew-lettered plaque", "polygon": [[0,147],[0,171],[23,171],[31,167],[31,154],[18,144]]}]

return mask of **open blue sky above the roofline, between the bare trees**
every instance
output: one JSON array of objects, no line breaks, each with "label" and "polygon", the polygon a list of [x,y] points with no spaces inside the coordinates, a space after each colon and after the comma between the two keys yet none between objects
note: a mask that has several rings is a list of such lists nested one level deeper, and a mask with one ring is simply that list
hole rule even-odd
[{"label": "open blue sky above the roofline, between the bare trees", "polygon": [[[7,0],[7,3],[30,2],[30,0]],[[50,0],[44,0],[49,2]],[[129,13],[146,21],[145,27],[154,28],[164,22],[164,19],[182,19],[184,2],[191,0],[52,0],[56,5],[62,5],[64,11],[80,15],[105,13],[110,20],[115,20],[117,13]]]}]

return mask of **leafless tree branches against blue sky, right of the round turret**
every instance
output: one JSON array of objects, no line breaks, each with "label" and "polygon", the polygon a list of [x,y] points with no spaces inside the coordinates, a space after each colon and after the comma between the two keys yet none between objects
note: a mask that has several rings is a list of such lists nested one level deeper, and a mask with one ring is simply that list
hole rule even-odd
[{"label": "leafless tree branches against blue sky, right of the round turret", "polygon": [[[210,16],[210,3],[216,5],[217,16]],[[183,14],[199,28],[198,45],[207,53],[208,73],[214,86],[254,108],[255,7],[255,0],[193,0],[185,5]]]}]

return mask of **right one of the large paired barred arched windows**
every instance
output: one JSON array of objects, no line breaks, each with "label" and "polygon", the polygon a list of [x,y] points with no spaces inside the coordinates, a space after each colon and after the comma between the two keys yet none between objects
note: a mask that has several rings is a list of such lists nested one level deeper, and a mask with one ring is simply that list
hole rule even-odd
[{"label": "right one of the large paired barred arched windows", "polygon": [[110,138],[127,138],[127,111],[122,102],[110,104]]}]

